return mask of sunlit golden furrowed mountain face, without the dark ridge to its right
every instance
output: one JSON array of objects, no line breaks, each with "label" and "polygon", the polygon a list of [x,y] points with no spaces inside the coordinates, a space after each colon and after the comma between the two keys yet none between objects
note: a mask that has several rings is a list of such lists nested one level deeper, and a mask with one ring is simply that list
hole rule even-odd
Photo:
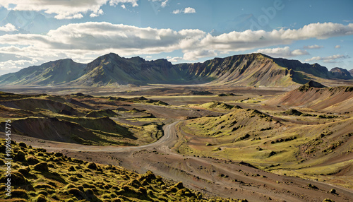
[{"label": "sunlit golden furrowed mountain face, without the dark ridge to its right", "polygon": [[291,79],[291,71],[278,66],[263,54],[235,55],[177,66],[187,69],[190,78],[213,80],[213,83],[268,86],[295,84]]}]

